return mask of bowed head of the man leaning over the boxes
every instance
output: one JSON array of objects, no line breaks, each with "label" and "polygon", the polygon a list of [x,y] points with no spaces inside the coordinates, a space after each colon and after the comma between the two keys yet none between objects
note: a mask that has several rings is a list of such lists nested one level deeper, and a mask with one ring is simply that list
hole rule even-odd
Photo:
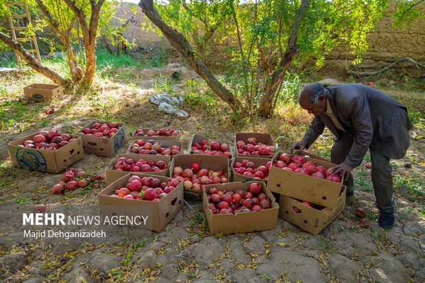
[{"label": "bowed head of the man leaning over the boxes", "polygon": [[298,103],[308,113],[319,116],[326,110],[325,88],[319,83],[306,84],[298,95]]}]

